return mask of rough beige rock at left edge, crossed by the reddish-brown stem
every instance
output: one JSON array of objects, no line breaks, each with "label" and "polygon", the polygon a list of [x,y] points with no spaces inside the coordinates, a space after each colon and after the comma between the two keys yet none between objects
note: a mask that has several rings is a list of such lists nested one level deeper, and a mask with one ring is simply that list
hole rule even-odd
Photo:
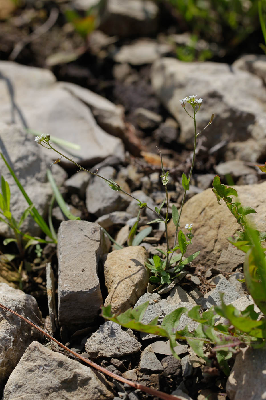
[{"label": "rough beige rock at left edge, crossed by the reddish-brown stem", "polygon": [[[35,298],[30,294],[25,294],[22,290],[0,283],[0,303],[40,325],[42,314]],[[1,308],[0,336],[1,390],[26,348],[33,340],[40,339],[41,335],[39,331],[32,329],[27,322]]]}]

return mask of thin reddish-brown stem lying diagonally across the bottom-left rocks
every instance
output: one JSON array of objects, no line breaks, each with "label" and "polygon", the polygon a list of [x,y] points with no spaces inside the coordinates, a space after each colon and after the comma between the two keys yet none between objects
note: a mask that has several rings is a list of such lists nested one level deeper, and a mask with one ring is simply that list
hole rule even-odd
[{"label": "thin reddish-brown stem lying diagonally across the bottom-left rocks", "polygon": [[28,324],[30,324],[31,326],[33,326],[34,328],[38,329],[40,332],[42,332],[42,334],[44,334],[45,336],[47,336],[49,339],[53,340],[54,342],[56,342],[58,344],[58,346],[62,347],[63,349],[67,350],[69,353],[73,354],[75,357],[79,358],[81,361],[85,362],[86,364],[89,364],[89,366],[103,372],[106,375],[111,376],[112,378],[119,380],[120,382],[126,383],[129,386],[132,386],[135,389],[139,389],[142,390],[143,392],[149,393],[155,397],[159,397],[163,400],[182,400],[180,397],[178,396],[172,396],[171,394],[167,394],[167,393],[163,393],[160,390],[156,390],[153,388],[147,388],[147,386],[143,386],[140,385],[138,383],[132,382],[131,380],[125,379],[122,376],[119,376],[117,374],[114,374],[111,371],[106,370],[105,368],[99,366],[98,364],[95,364],[95,362],[88,360],[85,357],[80,356],[79,354],[77,354],[76,352],[74,352],[73,350],[69,349],[68,347],[66,347],[64,344],[62,344],[61,342],[59,342],[58,340],[56,340],[55,338],[53,338],[53,336],[51,336],[49,333],[47,333],[45,330],[43,330],[42,328],[40,328],[40,326],[35,325],[33,322],[27,320],[27,318],[23,317],[22,315],[18,314],[16,311],[10,310],[10,308],[4,306],[3,304],[0,303],[0,307],[3,308],[4,310],[7,310],[9,312],[12,312],[12,314],[18,316],[19,318],[21,318],[22,320],[26,321]]}]

